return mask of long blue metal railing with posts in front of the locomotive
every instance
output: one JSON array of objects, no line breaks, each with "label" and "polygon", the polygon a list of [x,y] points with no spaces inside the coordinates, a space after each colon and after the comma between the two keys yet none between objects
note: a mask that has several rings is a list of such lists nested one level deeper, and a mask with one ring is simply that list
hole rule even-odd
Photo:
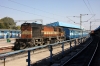
[{"label": "long blue metal railing with posts in front of the locomotive", "polygon": [[52,63],[52,51],[53,51],[53,46],[54,45],[58,45],[58,44],[61,44],[62,45],[62,56],[64,55],[64,44],[67,43],[67,42],[70,42],[70,50],[72,48],[71,44],[72,44],[72,41],[74,41],[74,44],[76,46],[76,42],[78,41],[78,44],[84,42],[88,37],[83,37],[83,38],[76,38],[76,39],[71,39],[71,40],[67,40],[67,41],[62,41],[62,42],[58,42],[58,43],[54,43],[54,44],[49,44],[49,45],[43,45],[43,46],[37,46],[37,47],[32,47],[32,48],[27,48],[27,49],[23,49],[23,50],[18,50],[18,51],[13,51],[13,52],[9,52],[9,53],[5,53],[5,54],[1,54],[0,55],[0,59],[3,59],[4,60],[4,66],[5,66],[5,60],[6,60],[6,57],[10,56],[10,55],[13,55],[13,54],[18,54],[18,53],[21,53],[21,52],[28,52],[28,59],[26,59],[26,62],[28,62],[28,66],[31,65],[30,63],[30,51],[33,51],[33,50],[36,50],[36,49],[39,49],[39,48],[44,48],[44,47],[48,47],[49,51],[50,51],[50,63]]}]

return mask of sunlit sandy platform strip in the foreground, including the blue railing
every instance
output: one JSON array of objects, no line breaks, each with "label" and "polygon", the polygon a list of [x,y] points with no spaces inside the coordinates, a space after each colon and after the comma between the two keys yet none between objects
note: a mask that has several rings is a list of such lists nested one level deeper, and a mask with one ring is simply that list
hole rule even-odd
[{"label": "sunlit sandy platform strip in the foreground, including the blue railing", "polygon": [[[5,66],[25,66],[27,64],[28,66],[30,66],[30,64],[33,66],[37,66],[38,64],[40,64],[39,66],[43,66],[46,64],[46,66],[48,66],[48,64],[51,64],[52,61],[54,62],[60,60],[63,56],[63,53],[65,53],[64,51],[68,50],[70,52],[71,48],[78,46],[79,44],[80,41],[76,42],[76,39],[72,39],[60,43],[5,53],[0,55],[0,57],[4,57],[3,60],[0,60],[0,66],[3,66],[4,64]],[[42,65],[41,62],[43,62]]]}]

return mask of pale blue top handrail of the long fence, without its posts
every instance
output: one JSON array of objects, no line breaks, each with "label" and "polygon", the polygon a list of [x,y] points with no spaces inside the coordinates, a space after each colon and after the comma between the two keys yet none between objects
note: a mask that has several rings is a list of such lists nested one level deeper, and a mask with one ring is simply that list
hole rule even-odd
[{"label": "pale blue top handrail of the long fence, without its posts", "polygon": [[[86,37],[87,39],[88,37]],[[84,39],[84,38],[83,38]],[[86,40],[84,39],[84,40]],[[53,44],[48,44],[48,45],[43,45],[43,46],[37,46],[37,47],[32,47],[32,48],[27,48],[27,49],[23,49],[23,50],[18,50],[18,51],[13,51],[13,52],[8,52],[8,53],[5,53],[5,54],[1,54],[0,55],[0,59],[4,59],[5,60],[5,57],[9,57],[11,55],[16,55],[18,53],[23,53],[23,52],[30,52],[30,51],[34,51],[36,49],[39,49],[39,48],[45,48],[45,47],[48,47],[49,46],[55,46],[55,45],[62,45],[63,43],[66,43],[66,42],[71,42],[71,41],[76,41],[76,39],[71,39],[71,40],[66,40],[66,41],[62,41],[62,42],[58,42],[58,43],[53,43]],[[78,38],[78,40],[82,40],[82,38]],[[78,41],[79,42],[79,41]],[[29,56],[28,56],[29,57]]]}]

